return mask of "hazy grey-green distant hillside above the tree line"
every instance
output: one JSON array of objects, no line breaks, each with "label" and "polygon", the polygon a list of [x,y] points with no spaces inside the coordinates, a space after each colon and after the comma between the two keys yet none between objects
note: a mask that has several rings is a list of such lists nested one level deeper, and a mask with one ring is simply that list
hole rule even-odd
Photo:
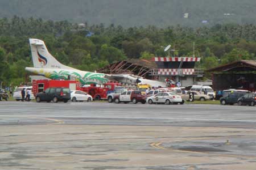
[{"label": "hazy grey-green distant hillside above the tree line", "polygon": [[[214,25],[216,23],[256,23],[256,3],[254,0],[130,0],[130,1],[26,1],[26,0],[2,0],[0,1],[0,17],[13,17],[15,14],[29,18],[38,16],[43,19],[64,20],[70,22],[86,22],[98,24],[97,32],[104,30],[106,25],[119,24],[122,27],[140,27],[146,25],[157,25],[158,27],[167,27],[169,25],[180,24],[189,27],[203,27],[204,25]],[[184,13],[189,17],[184,18]],[[232,15],[224,15],[230,13]],[[202,23],[202,20],[208,20],[208,23]],[[21,35],[28,30],[34,35],[36,31],[42,31],[45,28],[47,32],[63,32],[70,26],[63,22],[44,22],[31,18],[30,23],[36,24],[35,30],[31,30],[30,25],[24,23],[23,19],[13,18],[11,22],[24,24],[24,27],[10,27]],[[55,25],[58,28],[51,27]],[[1,27],[1,25],[0,25]],[[118,31],[122,31],[122,27]],[[76,25],[79,28],[79,25]],[[221,27],[216,27],[218,29]],[[112,29],[109,29],[112,32]],[[44,32],[45,33],[45,32]],[[172,33],[170,32],[170,37]],[[222,39],[222,37],[224,39]],[[225,36],[216,37],[224,42]],[[173,40],[173,39],[171,39]],[[170,39],[169,39],[170,41]],[[221,43],[222,43],[221,42]],[[117,47],[117,46],[115,46]]]}]

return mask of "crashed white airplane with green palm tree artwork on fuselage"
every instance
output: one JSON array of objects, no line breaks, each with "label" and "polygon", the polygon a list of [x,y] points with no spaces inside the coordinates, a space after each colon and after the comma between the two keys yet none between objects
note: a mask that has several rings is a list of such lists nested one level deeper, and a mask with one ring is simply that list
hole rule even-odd
[{"label": "crashed white airplane with green palm tree artwork on fuselage", "polygon": [[[135,84],[138,76],[128,74],[104,74],[81,71],[73,67],[65,66],[55,59],[47,50],[44,41],[38,39],[29,39],[32,61],[34,67],[26,67],[25,70],[35,75],[42,75],[50,79],[70,79],[79,80],[82,85],[85,84],[104,84],[109,80],[117,80],[121,83]],[[141,83],[149,84],[154,87],[165,87],[164,82],[139,78]]]}]

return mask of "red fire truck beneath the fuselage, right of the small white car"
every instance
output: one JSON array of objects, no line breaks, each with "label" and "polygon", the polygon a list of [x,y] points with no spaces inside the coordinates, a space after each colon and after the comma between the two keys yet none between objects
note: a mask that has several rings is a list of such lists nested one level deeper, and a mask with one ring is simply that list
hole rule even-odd
[{"label": "red fire truck beneath the fuselage, right of the small white car", "polygon": [[108,94],[114,92],[116,86],[121,86],[119,83],[105,83],[101,87],[96,87],[91,84],[89,87],[82,87],[80,90],[88,93],[94,100],[106,100]]}]

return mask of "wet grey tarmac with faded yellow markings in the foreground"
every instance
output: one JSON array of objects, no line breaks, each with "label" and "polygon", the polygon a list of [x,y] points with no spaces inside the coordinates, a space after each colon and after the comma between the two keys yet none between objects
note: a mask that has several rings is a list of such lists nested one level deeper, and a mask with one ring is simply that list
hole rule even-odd
[{"label": "wet grey tarmac with faded yellow markings in the foreground", "polygon": [[256,107],[0,102],[0,169],[255,169]]}]

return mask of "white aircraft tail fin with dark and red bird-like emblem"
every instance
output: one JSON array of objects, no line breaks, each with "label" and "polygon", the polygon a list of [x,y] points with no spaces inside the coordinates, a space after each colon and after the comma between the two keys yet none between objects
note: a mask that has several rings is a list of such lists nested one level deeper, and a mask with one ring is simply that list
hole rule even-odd
[{"label": "white aircraft tail fin with dark and red bird-like emblem", "polygon": [[44,41],[30,39],[30,48],[34,67],[67,69],[48,52]]}]

